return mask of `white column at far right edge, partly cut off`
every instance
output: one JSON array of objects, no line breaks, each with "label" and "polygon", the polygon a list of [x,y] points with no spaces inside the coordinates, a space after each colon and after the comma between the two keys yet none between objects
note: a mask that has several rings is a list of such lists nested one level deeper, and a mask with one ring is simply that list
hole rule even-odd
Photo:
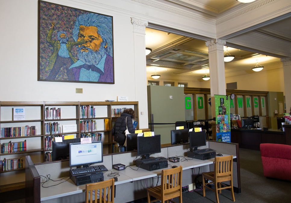
[{"label": "white column at far right edge, partly cut off", "polygon": [[286,112],[290,112],[291,107],[291,57],[281,59],[283,62],[284,72],[284,90],[285,90],[285,101],[286,101]]}]

